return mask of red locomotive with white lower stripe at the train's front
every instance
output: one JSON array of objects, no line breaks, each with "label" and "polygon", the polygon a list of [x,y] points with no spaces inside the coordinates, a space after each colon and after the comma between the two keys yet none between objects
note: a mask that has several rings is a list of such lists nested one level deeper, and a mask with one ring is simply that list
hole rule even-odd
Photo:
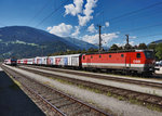
[{"label": "red locomotive with white lower stripe at the train's front", "polygon": [[82,55],[83,68],[118,69],[129,73],[152,74],[154,55],[151,50],[118,51]]}]

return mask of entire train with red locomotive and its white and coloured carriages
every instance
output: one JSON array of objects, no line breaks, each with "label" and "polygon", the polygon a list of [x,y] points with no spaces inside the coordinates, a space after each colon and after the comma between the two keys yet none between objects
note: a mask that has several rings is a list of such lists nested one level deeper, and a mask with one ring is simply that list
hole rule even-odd
[{"label": "entire train with red locomotive and its white and coloured carriages", "polygon": [[[19,62],[21,61],[21,62]],[[23,61],[23,62],[22,62]],[[151,50],[130,50],[105,53],[68,54],[56,56],[37,56],[18,60],[18,64],[35,64],[82,69],[107,69],[129,73],[153,73],[154,55]]]}]

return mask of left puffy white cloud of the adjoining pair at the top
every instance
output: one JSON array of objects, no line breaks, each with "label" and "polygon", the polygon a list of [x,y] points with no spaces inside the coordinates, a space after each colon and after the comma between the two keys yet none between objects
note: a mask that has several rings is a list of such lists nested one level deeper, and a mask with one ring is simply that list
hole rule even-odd
[{"label": "left puffy white cloud of the adjoining pair at the top", "polygon": [[83,0],[73,0],[73,3],[65,5],[65,15],[71,14],[76,16],[82,12]]}]

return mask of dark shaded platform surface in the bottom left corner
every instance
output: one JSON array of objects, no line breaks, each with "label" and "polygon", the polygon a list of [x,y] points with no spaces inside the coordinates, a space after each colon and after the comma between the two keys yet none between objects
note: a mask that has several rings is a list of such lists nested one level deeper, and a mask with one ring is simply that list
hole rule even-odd
[{"label": "dark shaded platform surface in the bottom left corner", "polygon": [[1,67],[0,116],[45,116]]}]

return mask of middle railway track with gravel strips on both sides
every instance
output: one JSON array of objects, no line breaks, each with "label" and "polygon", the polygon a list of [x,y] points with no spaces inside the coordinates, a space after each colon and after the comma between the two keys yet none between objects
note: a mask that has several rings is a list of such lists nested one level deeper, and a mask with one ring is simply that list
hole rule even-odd
[{"label": "middle railway track with gravel strips on both sides", "polygon": [[39,75],[42,75],[45,77],[52,77],[54,79],[62,79],[62,80],[70,82],[72,85],[83,86],[85,88],[90,88],[93,90],[94,89],[99,90],[103,93],[112,93],[118,96],[124,96],[129,100],[137,100],[138,102],[141,102],[143,104],[150,104],[153,106],[158,106],[162,109],[162,96],[158,96],[158,95],[153,95],[153,94],[149,94],[149,93],[137,92],[137,91],[133,91],[133,90],[129,90],[129,89],[105,86],[105,85],[90,82],[90,81],[80,80],[80,79],[76,79],[76,78],[68,78],[68,77],[49,74],[49,73],[44,73],[44,72],[42,73],[42,72],[33,70],[33,69],[29,69],[29,68],[23,68],[23,67],[19,67],[19,68],[25,69],[27,72],[35,73],[35,74],[39,74]]}]

